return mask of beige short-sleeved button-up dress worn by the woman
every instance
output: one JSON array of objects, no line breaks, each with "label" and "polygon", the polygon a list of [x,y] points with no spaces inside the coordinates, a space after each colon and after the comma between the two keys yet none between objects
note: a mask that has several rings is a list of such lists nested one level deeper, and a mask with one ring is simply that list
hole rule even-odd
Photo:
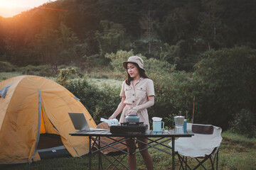
[{"label": "beige short-sleeved button-up dress worn by the woman", "polygon": [[[137,84],[135,84],[134,89],[132,83],[128,86],[125,81],[123,81],[122,90],[119,96],[125,96],[124,103],[126,106],[124,106],[119,120],[119,123],[124,123],[127,110],[146,103],[149,101],[148,96],[154,96],[154,83],[151,79],[144,79],[141,77]],[[145,125],[148,125],[149,129],[149,115],[146,108],[139,110],[137,115],[139,116],[139,121],[144,122]]]}]

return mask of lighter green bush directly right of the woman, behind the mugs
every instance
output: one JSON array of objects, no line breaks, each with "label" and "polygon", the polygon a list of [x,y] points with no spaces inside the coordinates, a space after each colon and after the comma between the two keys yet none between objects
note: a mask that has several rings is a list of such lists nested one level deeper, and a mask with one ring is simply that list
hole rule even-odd
[{"label": "lighter green bush directly right of the woman, behind the mugs", "polygon": [[191,74],[176,71],[176,65],[152,58],[145,61],[145,68],[154,81],[156,93],[155,104],[149,108],[149,115],[164,118],[170,127],[174,125],[174,116],[178,113],[191,119]]}]

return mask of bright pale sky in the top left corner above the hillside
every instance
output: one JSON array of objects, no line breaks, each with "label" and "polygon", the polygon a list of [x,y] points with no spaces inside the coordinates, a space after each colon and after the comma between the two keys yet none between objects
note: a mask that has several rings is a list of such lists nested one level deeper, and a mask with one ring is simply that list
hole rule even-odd
[{"label": "bright pale sky in the top left corner above the hillside", "polygon": [[0,0],[0,16],[12,17],[50,1],[56,0]]}]

